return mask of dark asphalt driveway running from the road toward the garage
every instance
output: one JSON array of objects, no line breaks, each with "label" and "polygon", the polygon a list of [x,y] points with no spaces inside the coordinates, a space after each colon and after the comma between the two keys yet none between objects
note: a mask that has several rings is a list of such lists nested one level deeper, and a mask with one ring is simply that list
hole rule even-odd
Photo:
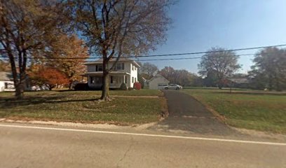
[{"label": "dark asphalt driveway running from the road toward the garage", "polygon": [[181,130],[196,134],[238,134],[224,123],[220,123],[203,104],[189,94],[177,90],[163,90],[168,102],[169,117],[152,130]]}]

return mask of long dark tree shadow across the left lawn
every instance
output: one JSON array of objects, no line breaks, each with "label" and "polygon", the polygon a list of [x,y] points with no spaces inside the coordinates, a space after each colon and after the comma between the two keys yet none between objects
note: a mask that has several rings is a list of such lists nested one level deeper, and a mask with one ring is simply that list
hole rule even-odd
[{"label": "long dark tree shadow across the left lawn", "polygon": [[36,104],[58,104],[67,102],[86,102],[86,101],[97,101],[99,98],[93,99],[67,99],[64,96],[51,96],[51,97],[41,97],[41,96],[30,96],[24,97],[23,99],[13,98],[1,98],[0,97],[0,109],[13,108],[15,106],[28,106]]}]

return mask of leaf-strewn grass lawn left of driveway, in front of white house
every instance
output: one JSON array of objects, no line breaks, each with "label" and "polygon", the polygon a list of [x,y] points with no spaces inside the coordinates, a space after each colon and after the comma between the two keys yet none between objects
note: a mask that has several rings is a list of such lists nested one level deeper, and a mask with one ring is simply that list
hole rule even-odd
[{"label": "leaf-strewn grass lawn left of driveway, in front of white house", "polygon": [[[16,100],[11,92],[0,93],[0,118],[56,120],[81,123],[130,125],[158,121],[166,108],[163,97],[114,97],[98,102],[100,91],[25,92]],[[111,91],[111,95],[161,96],[158,90]]]}]

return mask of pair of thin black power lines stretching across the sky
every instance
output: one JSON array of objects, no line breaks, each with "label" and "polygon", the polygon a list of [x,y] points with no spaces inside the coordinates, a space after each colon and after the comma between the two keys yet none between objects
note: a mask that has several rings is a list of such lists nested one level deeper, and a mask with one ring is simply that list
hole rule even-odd
[{"label": "pair of thin black power lines stretching across the sky", "polygon": [[[176,56],[176,55],[198,55],[198,54],[207,54],[207,53],[214,53],[214,52],[231,52],[231,51],[241,51],[241,50],[257,50],[257,49],[261,49],[261,48],[272,48],[272,47],[282,47],[282,46],[286,46],[286,44],[267,45],[267,46],[253,47],[253,48],[238,48],[238,49],[232,49],[232,50],[217,50],[217,51],[204,51],[204,52],[186,52],[186,53],[163,54],[163,55],[138,55],[138,56],[126,56],[126,57],[139,58],[139,57],[168,57],[168,56]],[[0,57],[4,57],[4,56],[0,56]],[[29,59],[33,59],[32,57],[28,57],[28,58]],[[98,58],[102,58],[102,57],[88,57],[88,58],[53,57],[53,58],[41,58],[41,59],[98,59]]]}]

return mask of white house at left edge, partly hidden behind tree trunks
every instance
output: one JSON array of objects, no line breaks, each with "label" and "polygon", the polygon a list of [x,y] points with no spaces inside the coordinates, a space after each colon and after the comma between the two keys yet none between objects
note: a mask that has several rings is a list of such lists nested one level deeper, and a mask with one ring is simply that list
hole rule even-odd
[{"label": "white house at left edge, partly hidden behind tree trunks", "polygon": [[[27,76],[25,90],[31,90],[31,87],[29,85],[29,80]],[[0,92],[4,91],[15,91],[14,87],[14,81],[12,73],[9,72],[0,72]]]}]

